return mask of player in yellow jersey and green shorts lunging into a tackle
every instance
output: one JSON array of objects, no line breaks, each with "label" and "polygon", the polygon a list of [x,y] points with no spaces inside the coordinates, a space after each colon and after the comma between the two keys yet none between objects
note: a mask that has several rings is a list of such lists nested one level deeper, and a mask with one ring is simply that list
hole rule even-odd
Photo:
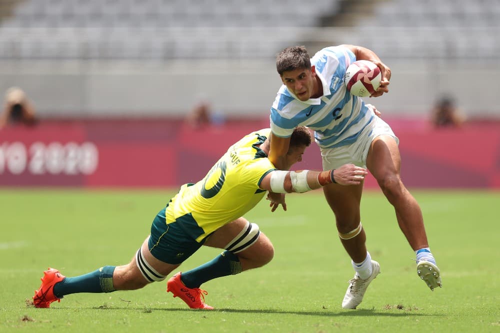
[{"label": "player in yellow jersey and green shorts lunging into a tackle", "polygon": [[[220,255],[191,271],[177,273],[167,282],[167,292],[192,309],[212,307],[204,303],[202,283],[267,264],[274,255],[269,239],[256,224],[242,217],[265,195],[306,192],[326,184],[359,184],[366,169],[353,164],[327,171],[276,170],[267,158],[270,129],[250,133],[233,144],[196,184],[185,184],[153,220],[147,236],[131,262],[103,266],[77,277],[65,277],[58,270],[43,272],[33,305],[50,303],[75,293],[110,293],[140,289],[162,281],[202,245],[224,249]],[[311,143],[308,130],[297,127],[291,135],[287,169],[302,160]],[[286,210],[284,202],[283,209]],[[277,207],[272,202],[271,211]]]}]

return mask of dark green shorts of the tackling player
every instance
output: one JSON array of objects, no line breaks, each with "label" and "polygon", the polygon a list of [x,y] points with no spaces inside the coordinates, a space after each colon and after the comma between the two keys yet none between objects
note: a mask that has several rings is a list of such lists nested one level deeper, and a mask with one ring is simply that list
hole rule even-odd
[{"label": "dark green shorts of the tackling player", "polygon": [[191,214],[181,216],[167,224],[165,209],[166,207],[160,210],[153,220],[147,247],[154,258],[167,264],[180,264],[196,252],[206,238],[200,243],[196,242],[196,238],[204,231]]}]

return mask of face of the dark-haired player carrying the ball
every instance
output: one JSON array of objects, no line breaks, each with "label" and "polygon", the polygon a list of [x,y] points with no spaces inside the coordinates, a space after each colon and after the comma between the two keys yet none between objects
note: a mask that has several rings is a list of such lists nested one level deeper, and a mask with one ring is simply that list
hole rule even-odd
[{"label": "face of the dark-haired player carrying the ball", "polygon": [[297,68],[283,72],[281,81],[286,88],[301,101],[308,100],[314,94],[316,72],[311,68]]}]

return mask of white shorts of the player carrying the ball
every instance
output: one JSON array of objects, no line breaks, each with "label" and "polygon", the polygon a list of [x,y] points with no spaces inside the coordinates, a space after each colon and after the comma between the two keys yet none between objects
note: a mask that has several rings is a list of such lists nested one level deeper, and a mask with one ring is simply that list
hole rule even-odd
[{"label": "white shorts of the player carrying the ball", "polygon": [[347,163],[366,168],[366,156],[371,142],[379,135],[390,135],[399,144],[390,126],[380,117],[373,117],[359,134],[354,143],[336,148],[320,148],[323,159],[323,170],[336,169]]}]

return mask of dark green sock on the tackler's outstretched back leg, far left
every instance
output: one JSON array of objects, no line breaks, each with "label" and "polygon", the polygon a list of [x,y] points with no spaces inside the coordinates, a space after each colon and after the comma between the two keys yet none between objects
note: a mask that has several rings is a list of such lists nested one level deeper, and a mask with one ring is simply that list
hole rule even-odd
[{"label": "dark green sock on the tackler's outstretched back leg, far left", "polygon": [[54,295],[61,298],[75,293],[111,293],[115,266],[104,266],[96,271],[73,278],[64,278],[54,285]]}]

